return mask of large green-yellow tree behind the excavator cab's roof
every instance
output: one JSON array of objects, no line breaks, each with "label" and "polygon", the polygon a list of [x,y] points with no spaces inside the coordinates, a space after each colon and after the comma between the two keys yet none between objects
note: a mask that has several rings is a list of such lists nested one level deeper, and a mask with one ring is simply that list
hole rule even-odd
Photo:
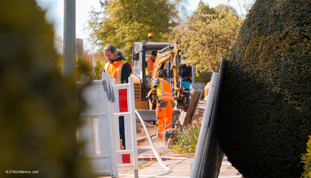
[{"label": "large green-yellow tree behind the excavator cab's roof", "polygon": [[104,11],[89,13],[89,40],[101,48],[115,45],[128,61],[134,42],[148,40],[148,33],[153,33],[153,41],[164,42],[161,33],[168,33],[177,24],[175,5],[167,0],[111,0],[102,4]]}]

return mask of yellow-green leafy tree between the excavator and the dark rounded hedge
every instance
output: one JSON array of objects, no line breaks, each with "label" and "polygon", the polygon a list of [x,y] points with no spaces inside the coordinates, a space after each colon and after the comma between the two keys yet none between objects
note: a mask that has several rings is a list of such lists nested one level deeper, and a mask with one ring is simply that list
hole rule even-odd
[{"label": "yellow-green leafy tree between the excavator and the dark rounded hedge", "polygon": [[199,9],[196,16],[187,19],[172,28],[174,37],[170,38],[181,42],[182,60],[189,66],[196,65],[197,74],[218,71],[221,56],[227,58],[234,45],[241,18],[232,10],[216,15],[203,14]]}]

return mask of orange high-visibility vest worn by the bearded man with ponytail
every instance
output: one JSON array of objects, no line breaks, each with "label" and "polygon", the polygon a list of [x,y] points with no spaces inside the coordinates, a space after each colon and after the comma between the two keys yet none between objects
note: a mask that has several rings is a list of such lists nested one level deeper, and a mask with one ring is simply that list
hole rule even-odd
[{"label": "orange high-visibility vest worn by the bearded man with ponytail", "polygon": [[[116,84],[121,84],[121,70],[125,63],[128,63],[128,62],[125,60],[118,60],[118,61],[114,61],[113,64],[108,62],[105,65],[105,72],[108,72],[108,75],[112,75],[112,77],[115,78]],[[132,66],[131,66],[131,69],[132,69]]]}]

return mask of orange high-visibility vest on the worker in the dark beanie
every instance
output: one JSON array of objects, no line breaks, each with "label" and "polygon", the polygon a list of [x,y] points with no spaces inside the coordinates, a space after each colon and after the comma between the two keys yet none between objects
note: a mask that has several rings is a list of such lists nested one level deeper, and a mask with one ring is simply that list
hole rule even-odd
[{"label": "orange high-visibility vest on the worker in the dark beanie", "polygon": [[158,100],[173,101],[174,98],[170,84],[163,78],[158,79],[160,81],[157,87]]}]

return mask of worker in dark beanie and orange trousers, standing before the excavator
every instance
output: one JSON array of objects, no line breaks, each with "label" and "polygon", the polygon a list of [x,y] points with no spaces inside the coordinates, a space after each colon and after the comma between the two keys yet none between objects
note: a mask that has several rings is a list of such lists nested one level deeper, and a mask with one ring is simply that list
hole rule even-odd
[{"label": "worker in dark beanie and orange trousers, standing before the excavator", "polygon": [[[157,102],[156,117],[158,125],[158,134],[152,138],[163,138],[165,128],[172,123],[173,117],[173,94],[170,84],[164,80],[163,70],[159,70],[157,78],[153,80],[153,103]],[[172,128],[169,126],[168,128]]]}]

